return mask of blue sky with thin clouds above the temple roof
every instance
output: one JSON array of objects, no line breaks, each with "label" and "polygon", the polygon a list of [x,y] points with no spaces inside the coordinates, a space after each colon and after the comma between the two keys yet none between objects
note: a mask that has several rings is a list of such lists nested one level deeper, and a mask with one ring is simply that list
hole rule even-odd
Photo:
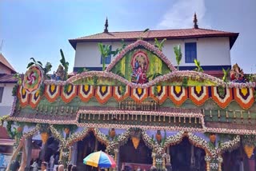
[{"label": "blue sky with thin clouds above the temple roof", "polygon": [[181,29],[193,27],[194,12],[201,28],[240,33],[231,62],[256,73],[256,0],[1,0],[2,54],[20,73],[31,57],[56,70],[62,48],[71,72],[68,39],[101,33],[106,17],[109,31]]}]

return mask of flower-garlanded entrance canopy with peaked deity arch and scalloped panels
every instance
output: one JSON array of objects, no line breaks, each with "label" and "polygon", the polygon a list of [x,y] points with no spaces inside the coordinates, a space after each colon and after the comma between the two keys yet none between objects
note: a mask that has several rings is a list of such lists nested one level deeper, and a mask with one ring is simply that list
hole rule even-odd
[{"label": "flower-garlanded entrance canopy with peaked deity arch and scalloped panels", "polygon": [[[166,148],[183,137],[205,149],[208,164],[215,159],[222,163],[221,154],[237,148],[240,136],[247,149],[254,149],[256,84],[246,82],[238,66],[230,72],[232,82],[226,81],[225,72],[220,79],[194,70],[180,71],[161,50],[142,40],[120,51],[105,71],[84,71],[65,79],[68,63],[65,58],[61,62],[51,78],[42,65],[28,68],[22,84],[14,87],[15,100],[6,121],[37,124],[26,137],[48,125],[47,130],[62,143],[61,156],[69,160],[70,146],[90,131],[115,156],[118,150],[114,149],[129,137],[135,149],[141,139],[145,141],[153,150],[153,160],[166,157]],[[73,128],[82,131],[64,139],[55,129],[58,126],[68,130],[66,135]],[[126,131],[116,135],[114,128]],[[106,135],[101,129],[110,132]],[[157,131],[155,139],[146,130]],[[161,130],[174,134],[162,138]],[[215,146],[216,134],[223,133],[231,136]]]}]

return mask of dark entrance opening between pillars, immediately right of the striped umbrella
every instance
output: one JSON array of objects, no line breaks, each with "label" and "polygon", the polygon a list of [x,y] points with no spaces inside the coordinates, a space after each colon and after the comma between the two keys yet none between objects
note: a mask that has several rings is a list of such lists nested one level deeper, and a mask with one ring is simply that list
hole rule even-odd
[{"label": "dark entrance opening between pillars, immediately right of the striped umbrella", "polygon": [[141,169],[147,168],[147,165],[152,165],[152,150],[146,146],[144,141],[140,140],[138,148],[135,149],[133,142],[129,138],[125,145],[120,147],[119,152],[119,169],[121,170],[122,164],[134,170],[140,166]]}]

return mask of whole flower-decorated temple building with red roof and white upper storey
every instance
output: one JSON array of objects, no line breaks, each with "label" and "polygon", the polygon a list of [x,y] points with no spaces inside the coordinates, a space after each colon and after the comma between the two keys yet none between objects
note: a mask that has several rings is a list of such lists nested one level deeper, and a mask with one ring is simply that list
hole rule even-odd
[{"label": "whole flower-decorated temple building with red roof and white upper storey", "polygon": [[256,83],[231,65],[236,38],[194,15],[192,29],[109,32],[106,21],[103,33],[70,39],[71,77],[61,50],[51,78],[32,62],[15,86],[3,120],[19,125],[12,160],[29,167],[41,134],[38,158],[78,170],[97,170],[83,158],[99,150],[118,171],[255,170]]}]

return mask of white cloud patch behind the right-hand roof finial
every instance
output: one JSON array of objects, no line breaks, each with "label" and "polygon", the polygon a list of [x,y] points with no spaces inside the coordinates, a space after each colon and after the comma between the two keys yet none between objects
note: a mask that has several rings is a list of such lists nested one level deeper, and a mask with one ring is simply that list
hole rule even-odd
[{"label": "white cloud patch behind the right-hand roof finial", "polygon": [[158,23],[158,29],[183,29],[194,26],[194,12],[198,17],[198,26],[209,28],[210,26],[204,21],[206,6],[204,0],[178,0],[170,10],[166,11],[162,21]]}]

